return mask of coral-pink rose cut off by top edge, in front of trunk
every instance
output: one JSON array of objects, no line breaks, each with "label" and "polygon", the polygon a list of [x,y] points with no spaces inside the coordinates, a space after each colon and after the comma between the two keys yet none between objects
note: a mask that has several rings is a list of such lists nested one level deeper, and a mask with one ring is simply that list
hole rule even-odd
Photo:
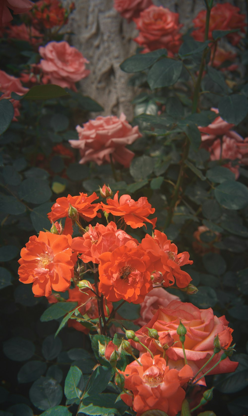
[{"label": "coral-pink rose cut off by top edge, in front of trunk", "polygon": [[114,0],[114,8],[130,22],[140,12],[152,5],[152,0]]}]

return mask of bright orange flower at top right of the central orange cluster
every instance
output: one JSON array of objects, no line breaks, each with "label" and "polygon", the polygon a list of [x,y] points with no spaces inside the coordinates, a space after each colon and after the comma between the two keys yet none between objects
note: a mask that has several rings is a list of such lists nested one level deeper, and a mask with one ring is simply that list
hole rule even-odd
[{"label": "bright orange flower at top right of the central orange cluster", "polygon": [[145,225],[144,222],[152,224],[153,228],[155,227],[157,218],[152,218],[152,220],[147,218],[148,215],[155,212],[155,208],[152,208],[145,196],[134,201],[130,195],[122,195],[118,201],[118,193],[119,191],[116,192],[114,199],[107,199],[108,205],[101,204],[104,211],[123,218],[125,223],[132,228],[140,228]]}]

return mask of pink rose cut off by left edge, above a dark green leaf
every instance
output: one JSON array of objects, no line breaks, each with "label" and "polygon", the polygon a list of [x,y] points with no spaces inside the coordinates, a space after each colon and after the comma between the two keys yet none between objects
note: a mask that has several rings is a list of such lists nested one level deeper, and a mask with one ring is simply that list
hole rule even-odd
[{"label": "pink rose cut off by left edge, above a dark green leaf", "polygon": [[[12,92],[20,95],[26,94],[26,92],[28,92],[28,88],[22,87],[19,78],[12,77],[12,75],[0,70],[0,91],[3,92],[0,97],[0,100],[2,100],[4,98],[10,99]],[[12,102],[15,110],[13,121],[17,121],[17,117],[20,116],[19,108],[21,103],[20,101],[14,99],[10,99],[10,102]]]}]

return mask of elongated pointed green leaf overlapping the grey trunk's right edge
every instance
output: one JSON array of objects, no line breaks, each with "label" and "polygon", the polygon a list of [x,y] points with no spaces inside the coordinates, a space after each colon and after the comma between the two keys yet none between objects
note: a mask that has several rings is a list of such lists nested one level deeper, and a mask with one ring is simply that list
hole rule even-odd
[{"label": "elongated pointed green leaf overlapping the grey trunk's right edge", "polygon": [[136,54],[130,56],[128,59],[125,59],[125,61],[120,64],[120,69],[124,72],[140,72],[144,69],[150,68],[152,64],[154,64],[161,56],[167,56],[166,49],[158,49],[144,54]]}]

